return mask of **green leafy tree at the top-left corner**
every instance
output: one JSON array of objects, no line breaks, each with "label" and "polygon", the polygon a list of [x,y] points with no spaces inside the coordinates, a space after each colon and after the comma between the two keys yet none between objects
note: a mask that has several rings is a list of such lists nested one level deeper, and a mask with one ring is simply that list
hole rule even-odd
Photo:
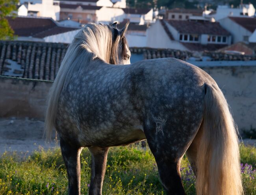
[{"label": "green leafy tree at the top-left corner", "polygon": [[0,39],[12,39],[14,31],[6,16],[15,17],[19,0],[0,0]]}]

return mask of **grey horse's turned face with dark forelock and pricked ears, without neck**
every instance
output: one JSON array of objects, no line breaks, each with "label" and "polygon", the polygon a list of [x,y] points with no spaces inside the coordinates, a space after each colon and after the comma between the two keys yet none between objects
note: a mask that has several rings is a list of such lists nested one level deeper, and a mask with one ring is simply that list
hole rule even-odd
[{"label": "grey horse's turned face with dark forelock and pricked ears, without neck", "polygon": [[113,49],[112,49],[112,61],[111,64],[130,64],[131,52],[128,46],[128,42],[125,37],[125,33],[128,29],[129,22],[122,29],[117,29],[117,22],[113,23],[111,31],[113,34]]}]

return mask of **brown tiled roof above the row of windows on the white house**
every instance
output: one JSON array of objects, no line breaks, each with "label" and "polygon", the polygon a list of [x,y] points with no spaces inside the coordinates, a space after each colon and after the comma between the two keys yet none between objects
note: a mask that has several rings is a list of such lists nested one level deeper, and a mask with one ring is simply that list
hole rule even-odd
[{"label": "brown tiled roof above the row of windows on the white house", "polygon": [[230,35],[219,22],[194,22],[188,20],[166,20],[179,33],[207,34],[207,35]]}]

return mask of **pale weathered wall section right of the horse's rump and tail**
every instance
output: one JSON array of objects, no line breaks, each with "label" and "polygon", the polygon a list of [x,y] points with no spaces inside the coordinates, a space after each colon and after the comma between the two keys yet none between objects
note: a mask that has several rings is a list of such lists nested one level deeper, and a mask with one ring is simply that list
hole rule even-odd
[{"label": "pale weathered wall section right of the horse's rump and tail", "polygon": [[256,128],[256,66],[201,68],[222,89],[239,130]]}]

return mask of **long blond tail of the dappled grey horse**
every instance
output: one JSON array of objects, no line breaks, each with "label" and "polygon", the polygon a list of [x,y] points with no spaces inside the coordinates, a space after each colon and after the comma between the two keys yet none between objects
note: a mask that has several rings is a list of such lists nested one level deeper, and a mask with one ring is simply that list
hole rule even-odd
[{"label": "long blond tail of the dappled grey horse", "polygon": [[198,195],[241,195],[237,128],[217,84],[205,84],[202,137],[197,152]]}]

